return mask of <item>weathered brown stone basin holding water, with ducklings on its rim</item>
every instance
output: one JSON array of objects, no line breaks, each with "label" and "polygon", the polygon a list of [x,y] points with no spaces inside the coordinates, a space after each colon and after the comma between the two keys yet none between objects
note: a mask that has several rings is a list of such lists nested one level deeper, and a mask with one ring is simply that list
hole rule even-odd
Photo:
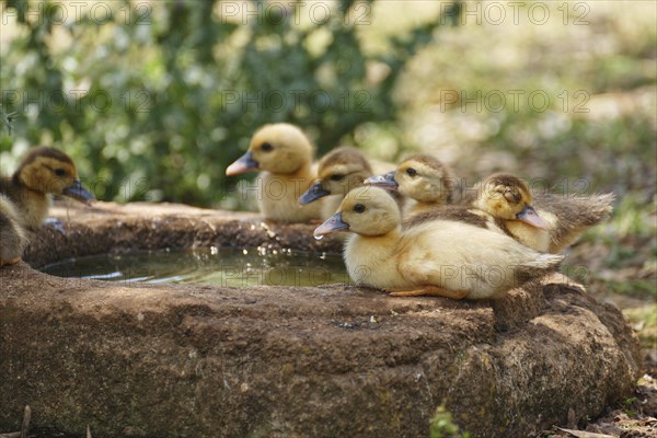
[{"label": "weathered brown stone basin holding water, with ducklings on its rim", "polygon": [[[338,252],[312,224],[180,205],[56,208],[39,267],[194,246]],[[353,285],[162,286],[0,269],[0,433],[99,437],[420,437],[440,405],[472,437],[599,415],[639,372],[621,312],[555,274],[496,302]]]}]

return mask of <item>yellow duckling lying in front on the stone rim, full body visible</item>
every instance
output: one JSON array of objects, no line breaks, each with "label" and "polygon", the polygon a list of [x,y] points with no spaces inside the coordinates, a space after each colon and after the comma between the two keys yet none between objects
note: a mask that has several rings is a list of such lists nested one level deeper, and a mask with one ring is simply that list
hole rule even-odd
[{"label": "yellow duckling lying in front on the stone rim, full body visible", "polygon": [[498,298],[555,270],[563,260],[503,233],[456,220],[428,220],[402,229],[397,205],[378,187],[349,192],[314,235],[335,231],[355,233],[344,250],[351,279],[393,296]]}]

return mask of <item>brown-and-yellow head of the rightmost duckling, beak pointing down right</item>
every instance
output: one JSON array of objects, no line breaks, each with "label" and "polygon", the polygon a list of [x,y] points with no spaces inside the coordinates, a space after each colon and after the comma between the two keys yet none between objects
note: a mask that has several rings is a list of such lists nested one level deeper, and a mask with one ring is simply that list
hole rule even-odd
[{"label": "brown-and-yellow head of the rightmost duckling, beak pointing down right", "polygon": [[521,220],[548,229],[548,223],[531,206],[532,196],[527,183],[515,175],[498,173],[477,185],[474,207],[505,220]]}]

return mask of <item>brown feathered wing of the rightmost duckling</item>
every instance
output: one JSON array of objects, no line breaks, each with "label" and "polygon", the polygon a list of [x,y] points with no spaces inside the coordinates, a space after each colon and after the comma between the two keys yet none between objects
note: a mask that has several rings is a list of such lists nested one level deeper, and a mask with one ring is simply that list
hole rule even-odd
[{"label": "brown feathered wing of the rightmost duckling", "polygon": [[534,207],[539,209],[539,215],[551,222],[550,252],[569,246],[587,228],[607,219],[611,214],[613,199],[612,193],[590,196],[549,193],[535,195]]}]

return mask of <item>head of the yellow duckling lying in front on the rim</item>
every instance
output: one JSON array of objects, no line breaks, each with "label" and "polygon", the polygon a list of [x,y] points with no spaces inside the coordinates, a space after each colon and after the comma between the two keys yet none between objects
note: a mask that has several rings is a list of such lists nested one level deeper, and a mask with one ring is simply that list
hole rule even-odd
[{"label": "head of the yellow duckling lying in front on the rim", "polygon": [[384,189],[364,186],[345,196],[335,215],[314,231],[315,238],[336,231],[361,235],[383,235],[400,227],[402,215],[395,200]]}]

